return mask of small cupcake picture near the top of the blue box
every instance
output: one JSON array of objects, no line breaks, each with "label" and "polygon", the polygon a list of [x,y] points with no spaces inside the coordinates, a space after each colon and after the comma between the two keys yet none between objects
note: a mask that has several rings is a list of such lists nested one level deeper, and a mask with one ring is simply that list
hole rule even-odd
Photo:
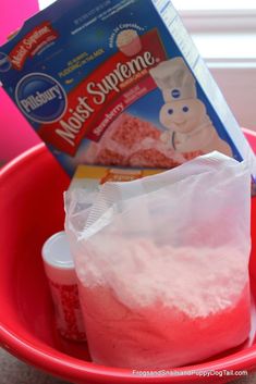
[{"label": "small cupcake picture near the top of the blue box", "polygon": [[118,34],[117,46],[127,57],[137,54],[142,49],[142,41],[134,29],[124,29]]}]

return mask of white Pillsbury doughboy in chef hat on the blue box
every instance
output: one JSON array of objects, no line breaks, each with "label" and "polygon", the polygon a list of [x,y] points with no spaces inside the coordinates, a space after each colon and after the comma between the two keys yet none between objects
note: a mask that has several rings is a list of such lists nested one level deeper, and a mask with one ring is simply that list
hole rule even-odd
[{"label": "white Pillsbury doughboy in chef hat on the blue box", "polygon": [[166,102],[160,122],[168,131],[161,140],[180,153],[218,150],[231,157],[230,146],[218,136],[205,104],[197,99],[195,79],[183,59],[163,61],[150,75]]}]

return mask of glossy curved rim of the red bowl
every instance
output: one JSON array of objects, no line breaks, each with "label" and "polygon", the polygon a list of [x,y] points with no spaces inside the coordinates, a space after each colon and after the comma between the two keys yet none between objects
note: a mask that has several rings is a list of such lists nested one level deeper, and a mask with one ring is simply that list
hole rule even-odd
[{"label": "glossy curved rim of the red bowl", "polygon": [[[243,132],[248,136],[256,137],[256,132],[252,132],[249,129],[243,129]],[[47,147],[45,144],[36,145],[35,147],[26,150],[0,170],[0,183],[5,177],[9,177],[13,173],[17,172],[19,168],[23,163],[34,161],[35,157],[46,156],[46,153]],[[208,362],[166,370],[168,372],[193,372],[193,374],[190,375],[170,374],[158,376],[139,376],[133,374],[133,370],[131,369],[103,367],[93,362],[83,361],[72,358],[61,351],[56,352],[56,350],[49,346],[46,351],[41,347],[44,344],[40,344],[39,342],[38,344],[41,346],[34,346],[23,336],[8,329],[2,319],[0,319],[0,344],[4,349],[7,349],[7,351],[32,366],[35,366],[56,376],[71,381],[78,380],[80,382],[83,382],[83,380],[90,380],[92,382],[96,382],[97,380],[98,383],[106,383],[106,380],[111,380],[112,383],[137,383],[142,381],[144,383],[188,383],[192,381],[205,382],[205,377],[200,375],[200,372],[223,370],[239,371],[241,369],[252,371],[256,367],[255,344],[246,349],[233,352],[222,358],[214,359]],[[232,379],[232,376],[229,376],[229,379]]]}]

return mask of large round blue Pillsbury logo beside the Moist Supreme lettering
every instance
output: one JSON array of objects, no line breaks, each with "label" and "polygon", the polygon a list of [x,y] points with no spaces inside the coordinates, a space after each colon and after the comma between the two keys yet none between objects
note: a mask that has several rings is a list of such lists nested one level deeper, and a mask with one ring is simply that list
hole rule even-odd
[{"label": "large round blue Pillsbury logo beside the Moist Supreme lettering", "polygon": [[22,112],[36,123],[53,123],[66,110],[62,86],[44,73],[24,76],[16,85],[15,100]]}]

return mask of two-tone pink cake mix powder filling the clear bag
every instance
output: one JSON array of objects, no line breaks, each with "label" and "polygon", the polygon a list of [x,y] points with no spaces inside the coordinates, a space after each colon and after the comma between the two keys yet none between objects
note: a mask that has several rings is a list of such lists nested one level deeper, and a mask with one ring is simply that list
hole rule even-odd
[{"label": "two-tone pink cake mix powder filling the clear bag", "polygon": [[117,256],[111,245],[95,241],[90,238],[86,257],[76,260],[95,362],[168,369],[206,359],[247,338],[247,261],[239,250],[115,239]]}]

